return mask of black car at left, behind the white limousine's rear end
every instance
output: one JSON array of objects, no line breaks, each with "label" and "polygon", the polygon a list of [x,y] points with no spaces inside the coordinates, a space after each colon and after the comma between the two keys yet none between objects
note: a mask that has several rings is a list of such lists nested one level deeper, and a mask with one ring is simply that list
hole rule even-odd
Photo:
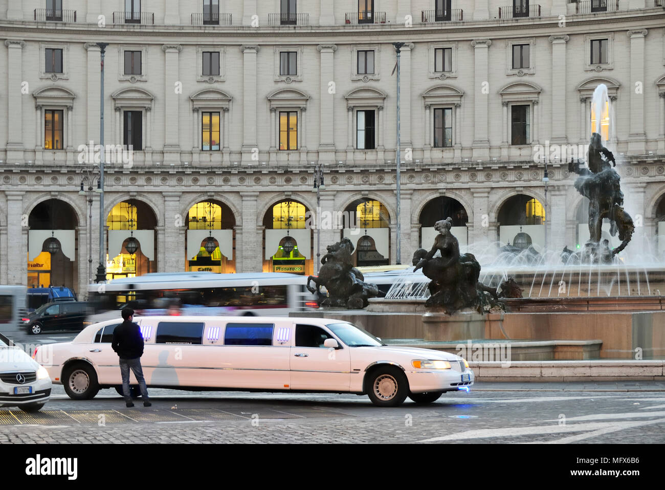
[{"label": "black car at left, behind the white limousine's rear end", "polygon": [[88,304],[83,301],[58,301],[39,306],[21,318],[21,324],[32,334],[41,334],[44,330],[80,332],[88,325],[88,313]]}]

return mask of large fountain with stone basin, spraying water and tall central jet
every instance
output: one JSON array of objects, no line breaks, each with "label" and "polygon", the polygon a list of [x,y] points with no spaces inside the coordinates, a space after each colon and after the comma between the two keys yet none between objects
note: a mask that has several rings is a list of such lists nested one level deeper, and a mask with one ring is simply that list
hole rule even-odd
[{"label": "large fountain with stone basin, spraying water and tall central jet", "polygon": [[[569,164],[575,189],[589,198],[589,240],[581,250],[495,242],[460,251],[442,217],[434,247],[414,253],[414,268],[405,269],[384,298],[369,297],[365,310],[331,312],[331,318],[451,352],[456,342],[509,342],[513,360],[665,358],[665,267],[648,251],[626,254],[635,227],[602,137],[605,108],[601,84],[593,95],[597,124],[586,162]],[[613,248],[603,221],[620,240]]]}]

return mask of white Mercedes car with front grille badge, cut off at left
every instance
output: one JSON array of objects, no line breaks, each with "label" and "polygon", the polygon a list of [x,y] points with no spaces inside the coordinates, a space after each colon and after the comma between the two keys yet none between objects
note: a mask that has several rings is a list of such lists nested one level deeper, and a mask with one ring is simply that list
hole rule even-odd
[{"label": "white Mercedes car with front grille badge, cut off at left", "polygon": [[0,407],[41,410],[51,397],[49,372],[0,335]]}]

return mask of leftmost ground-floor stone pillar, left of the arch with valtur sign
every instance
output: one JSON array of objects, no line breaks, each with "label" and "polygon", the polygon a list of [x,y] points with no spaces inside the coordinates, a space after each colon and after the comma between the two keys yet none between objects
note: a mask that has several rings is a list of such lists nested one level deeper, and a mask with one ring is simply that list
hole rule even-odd
[{"label": "leftmost ground-floor stone pillar, left of the arch with valtur sign", "polygon": [[[9,127],[11,128],[11,125]],[[5,191],[5,195],[7,196],[7,284],[22,285],[28,277],[28,227],[21,226],[22,222],[25,223],[23,219],[25,192]]]}]

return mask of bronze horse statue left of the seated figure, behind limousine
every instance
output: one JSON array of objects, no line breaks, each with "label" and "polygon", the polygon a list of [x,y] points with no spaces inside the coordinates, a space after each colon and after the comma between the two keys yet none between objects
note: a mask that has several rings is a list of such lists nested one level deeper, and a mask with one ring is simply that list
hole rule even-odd
[{"label": "bronze horse statue left of the seated figure, behind limousine", "polygon": [[[359,309],[367,306],[368,298],[384,296],[376,285],[365,283],[362,273],[353,267],[351,255],[354,247],[350,239],[342,238],[328,245],[327,249],[328,253],[321,258],[319,275],[307,278],[307,289],[317,293],[320,306]],[[316,287],[311,287],[311,282]],[[321,293],[321,286],[327,289],[328,297]]]}]

